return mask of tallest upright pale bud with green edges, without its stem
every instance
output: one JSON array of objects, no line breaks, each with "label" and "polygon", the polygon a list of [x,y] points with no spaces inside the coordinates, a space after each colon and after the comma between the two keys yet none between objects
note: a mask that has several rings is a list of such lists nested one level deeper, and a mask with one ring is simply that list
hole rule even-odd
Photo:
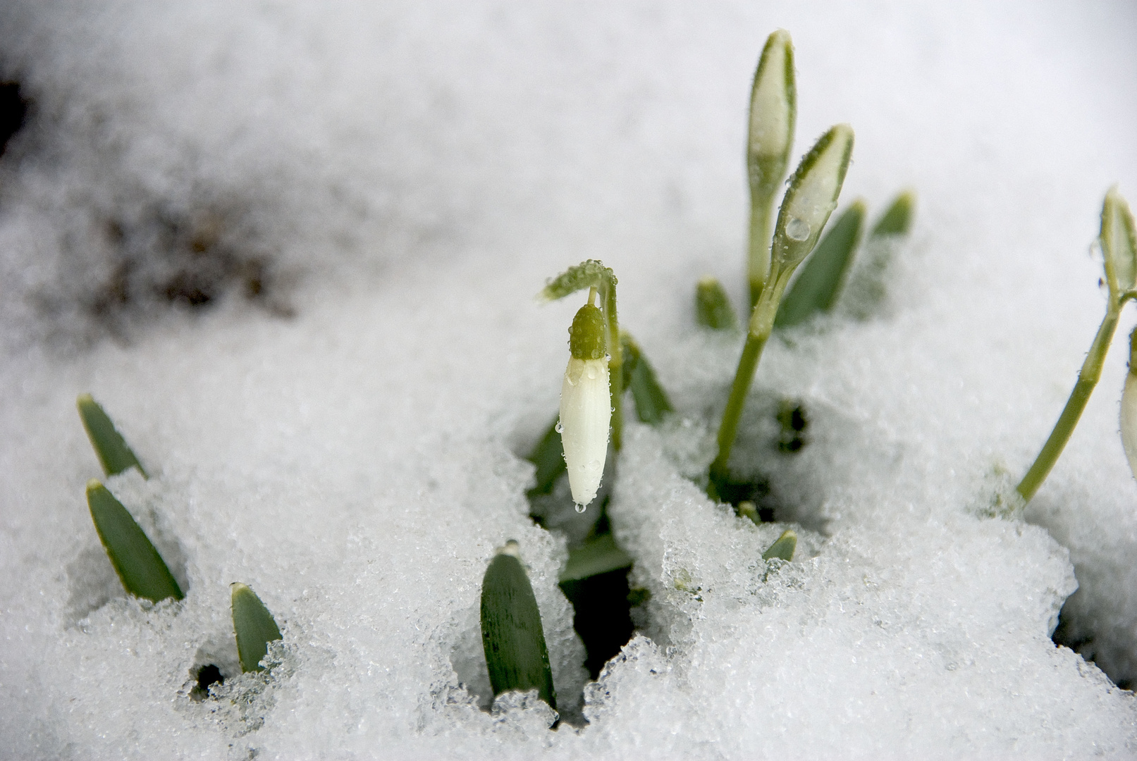
[{"label": "tallest upright pale bud with green edges, without its stem", "polygon": [[760,195],[774,192],[786,175],[796,115],[794,44],[789,32],[778,30],[766,39],[750,89],[747,166]]}]

